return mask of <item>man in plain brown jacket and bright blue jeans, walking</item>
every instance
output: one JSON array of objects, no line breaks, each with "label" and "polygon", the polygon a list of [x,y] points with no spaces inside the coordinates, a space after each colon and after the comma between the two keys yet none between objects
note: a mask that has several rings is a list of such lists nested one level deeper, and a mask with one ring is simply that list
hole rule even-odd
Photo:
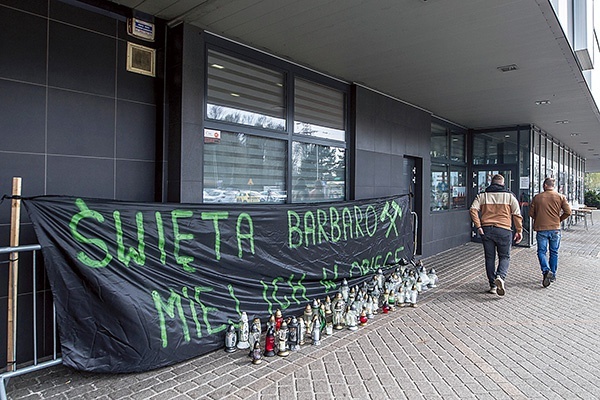
[{"label": "man in plain brown jacket and bright blue jeans, walking", "polygon": [[[538,260],[542,268],[542,286],[548,287],[556,280],[558,248],[560,247],[560,223],[571,215],[567,198],[554,190],[554,178],[544,180],[544,191],[535,195],[529,209],[538,244]],[[547,258],[548,247],[550,257]],[[550,262],[548,262],[550,261]]]}]

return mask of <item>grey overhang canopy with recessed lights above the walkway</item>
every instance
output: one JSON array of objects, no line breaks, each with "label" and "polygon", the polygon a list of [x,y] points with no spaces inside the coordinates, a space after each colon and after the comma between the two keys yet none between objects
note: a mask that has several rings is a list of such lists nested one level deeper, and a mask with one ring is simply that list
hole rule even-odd
[{"label": "grey overhang canopy with recessed lights above the walkway", "polygon": [[600,113],[548,0],[113,2],[467,128],[534,124],[583,156],[588,171],[600,171]]}]

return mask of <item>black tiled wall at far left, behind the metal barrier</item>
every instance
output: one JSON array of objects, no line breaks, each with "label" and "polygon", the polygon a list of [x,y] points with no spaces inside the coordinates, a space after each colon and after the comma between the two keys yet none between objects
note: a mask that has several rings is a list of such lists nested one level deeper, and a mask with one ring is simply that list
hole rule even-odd
[{"label": "black tiled wall at far left, behind the metal barrier", "polygon": [[[160,76],[161,39],[138,41],[127,35],[125,18],[73,4],[0,0],[0,195],[9,195],[12,177],[20,176],[23,196],[160,199],[162,81],[128,72],[126,58],[127,41],[157,48]],[[9,245],[10,208],[9,200],[0,204],[0,247]],[[24,210],[21,221],[20,243],[36,243]],[[32,313],[31,264],[30,255],[20,260],[19,319]],[[38,275],[38,315],[48,318],[41,263]],[[0,310],[7,280],[2,263]],[[18,335],[31,343],[31,327],[20,326]],[[51,335],[40,332],[40,339],[50,343]],[[6,348],[6,317],[0,347]],[[20,362],[31,359],[26,346],[18,350]],[[5,357],[0,352],[0,365]]]}]

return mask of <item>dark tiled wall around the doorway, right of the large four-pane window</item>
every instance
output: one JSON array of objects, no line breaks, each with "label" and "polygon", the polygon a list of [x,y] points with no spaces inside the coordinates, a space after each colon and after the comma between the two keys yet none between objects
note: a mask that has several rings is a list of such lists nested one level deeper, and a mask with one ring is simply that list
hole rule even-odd
[{"label": "dark tiled wall around the doorway, right of the large four-pane window", "polygon": [[353,160],[355,197],[357,199],[404,194],[403,158],[422,159],[422,210],[419,230],[422,255],[428,256],[470,240],[467,210],[431,214],[429,157],[431,115],[408,104],[368,89],[357,87],[356,155]]}]

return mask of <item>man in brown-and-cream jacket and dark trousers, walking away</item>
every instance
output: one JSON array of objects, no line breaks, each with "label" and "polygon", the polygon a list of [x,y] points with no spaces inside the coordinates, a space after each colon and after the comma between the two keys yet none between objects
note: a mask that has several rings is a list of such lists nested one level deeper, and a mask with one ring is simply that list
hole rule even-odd
[{"label": "man in brown-and-cream jacket and dark trousers, walking away", "polygon": [[[496,174],[485,192],[479,193],[473,200],[469,212],[483,242],[485,270],[490,284],[489,292],[504,296],[504,279],[508,273],[513,241],[513,223],[516,230],[515,243],[519,243],[522,239],[523,217],[519,202],[515,195],[504,187],[504,177]],[[498,253],[497,269],[496,253]]]}]

